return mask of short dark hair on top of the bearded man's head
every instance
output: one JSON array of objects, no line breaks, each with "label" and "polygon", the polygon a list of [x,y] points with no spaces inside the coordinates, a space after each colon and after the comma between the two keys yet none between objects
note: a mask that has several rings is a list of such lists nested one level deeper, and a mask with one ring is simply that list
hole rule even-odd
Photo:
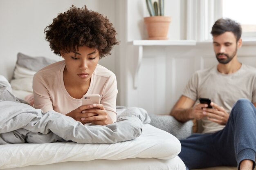
[{"label": "short dark hair on top of the bearded man's head", "polygon": [[238,40],[241,38],[242,28],[241,25],[234,20],[231,20],[229,18],[220,18],[213,24],[213,27],[211,29],[211,35],[221,35],[225,32],[234,33],[234,35],[236,36],[236,42],[238,42]]}]

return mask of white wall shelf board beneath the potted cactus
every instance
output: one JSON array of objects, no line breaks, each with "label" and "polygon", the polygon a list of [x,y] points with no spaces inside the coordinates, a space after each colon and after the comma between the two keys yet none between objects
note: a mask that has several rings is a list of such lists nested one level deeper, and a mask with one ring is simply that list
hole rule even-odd
[{"label": "white wall shelf board beneath the potted cactus", "polygon": [[195,40],[134,40],[132,42],[135,46],[193,46],[196,44]]}]

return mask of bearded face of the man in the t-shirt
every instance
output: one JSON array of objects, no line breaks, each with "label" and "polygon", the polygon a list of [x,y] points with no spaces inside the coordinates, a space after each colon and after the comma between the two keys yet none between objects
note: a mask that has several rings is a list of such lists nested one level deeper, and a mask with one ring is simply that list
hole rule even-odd
[{"label": "bearded face of the man in the t-shirt", "polygon": [[232,32],[225,32],[213,36],[213,49],[219,63],[227,64],[235,56],[237,49],[242,45],[242,40],[236,42],[236,36]]}]

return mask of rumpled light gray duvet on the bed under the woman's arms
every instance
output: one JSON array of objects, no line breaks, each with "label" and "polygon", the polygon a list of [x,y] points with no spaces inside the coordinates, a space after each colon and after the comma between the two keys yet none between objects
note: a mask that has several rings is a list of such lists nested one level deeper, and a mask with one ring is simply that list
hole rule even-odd
[{"label": "rumpled light gray duvet on the bed under the woman's arms", "polygon": [[0,81],[0,144],[50,143],[117,143],[141,135],[143,124],[150,123],[142,108],[117,109],[117,121],[105,126],[83,125],[54,110],[43,113],[16,98]]}]

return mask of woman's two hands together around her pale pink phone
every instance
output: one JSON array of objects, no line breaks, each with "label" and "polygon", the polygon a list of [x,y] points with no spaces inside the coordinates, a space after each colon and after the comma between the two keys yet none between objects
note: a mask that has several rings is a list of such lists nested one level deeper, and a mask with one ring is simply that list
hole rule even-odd
[{"label": "woman's two hands together around her pale pink phone", "polygon": [[102,104],[83,105],[66,114],[82,124],[112,124],[113,121]]}]

